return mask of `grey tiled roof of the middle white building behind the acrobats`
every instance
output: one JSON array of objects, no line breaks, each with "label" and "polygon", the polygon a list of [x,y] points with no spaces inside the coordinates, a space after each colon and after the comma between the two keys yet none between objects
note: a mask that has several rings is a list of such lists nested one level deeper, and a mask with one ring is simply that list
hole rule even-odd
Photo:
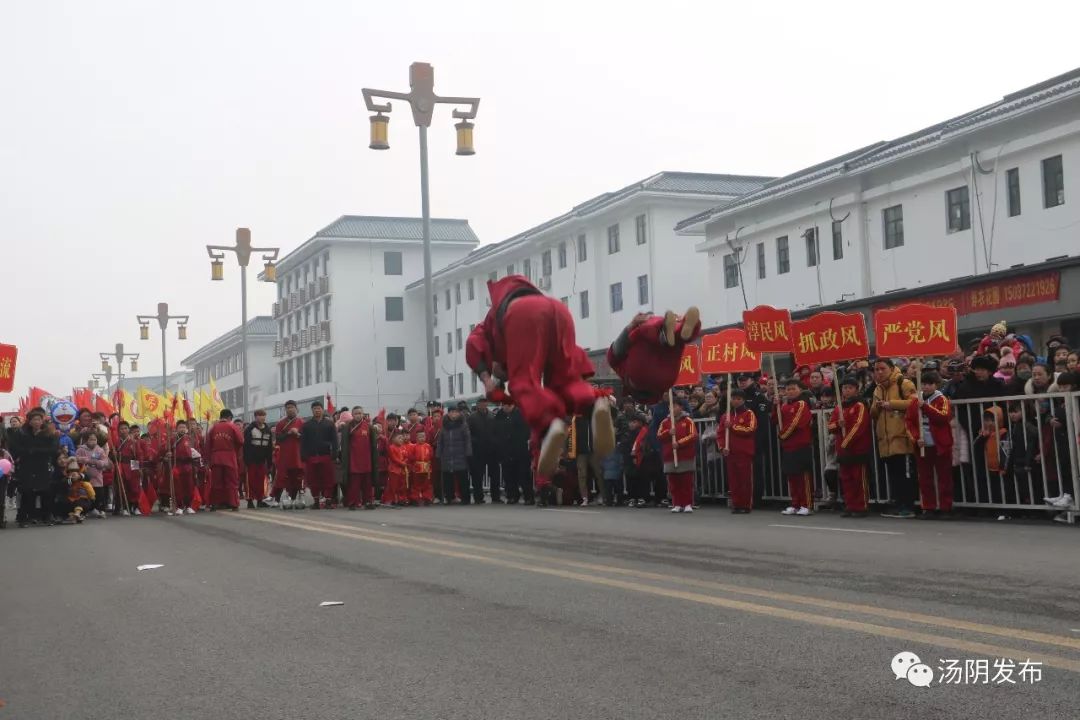
[{"label": "grey tiled roof of the middle white building behind the acrobats", "polygon": [[[734,199],[745,192],[760,188],[764,184],[771,179],[772,178],[770,177],[758,175],[713,175],[708,173],[673,172],[657,173],[656,175],[649,176],[639,182],[629,185],[620,190],[605,192],[600,195],[592,198],[591,200],[586,200],[580,205],[575,205],[568,213],[564,213],[563,215],[554,217],[545,222],[541,222],[540,225],[517,233],[512,237],[508,237],[502,242],[477,247],[464,258],[458,260],[457,262],[451,262],[442,270],[433,273],[432,276],[438,277],[454,272],[462,266],[473,264],[488,255],[504,250],[508,247],[524,245],[552,228],[575,218],[586,217],[612,205],[616,202],[619,202],[620,200],[624,200],[639,192],[653,192],[670,195],[715,195],[717,198],[724,198],[727,195],[729,199]],[[416,281],[408,287],[419,287],[422,284],[422,280]]]}]

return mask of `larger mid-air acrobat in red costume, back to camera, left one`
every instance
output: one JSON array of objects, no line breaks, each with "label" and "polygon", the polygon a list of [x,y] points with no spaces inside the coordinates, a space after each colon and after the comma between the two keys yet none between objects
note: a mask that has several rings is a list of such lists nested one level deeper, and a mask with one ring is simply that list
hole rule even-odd
[{"label": "larger mid-air acrobat in red costume, back to camera, left one", "polygon": [[566,305],[543,295],[521,275],[487,284],[491,309],[469,336],[465,362],[496,390],[505,379],[514,402],[540,437],[538,470],[551,475],[566,441],[564,418],[593,411],[593,451],[606,457],[615,449],[611,407],[606,395],[585,382],[595,373],[575,338]]}]

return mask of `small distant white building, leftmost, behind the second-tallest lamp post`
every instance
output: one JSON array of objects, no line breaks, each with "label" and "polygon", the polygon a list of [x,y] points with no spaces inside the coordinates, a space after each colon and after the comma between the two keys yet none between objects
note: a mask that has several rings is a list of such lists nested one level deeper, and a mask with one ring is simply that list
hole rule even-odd
[{"label": "small distant white building, leftmost, behind the second-tallest lamp post", "polygon": [[210,392],[210,380],[214,378],[225,407],[237,417],[251,420],[251,412],[261,407],[275,390],[278,367],[273,359],[273,344],[276,338],[278,326],[269,315],[247,321],[249,406],[244,397],[244,353],[239,325],[185,357],[183,365],[194,371],[197,389]]}]

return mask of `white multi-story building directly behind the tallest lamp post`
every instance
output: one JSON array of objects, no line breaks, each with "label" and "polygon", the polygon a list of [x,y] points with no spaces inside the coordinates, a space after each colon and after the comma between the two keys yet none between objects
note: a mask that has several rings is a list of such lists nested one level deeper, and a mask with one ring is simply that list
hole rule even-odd
[{"label": "white multi-story building directly behind the tallest lamp post", "polygon": [[[468,220],[431,220],[432,268],[478,244]],[[286,399],[330,395],[339,407],[400,409],[426,384],[421,298],[406,285],[423,276],[419,218],[346,215],[278,263],[272,348],[276,417]]]}]

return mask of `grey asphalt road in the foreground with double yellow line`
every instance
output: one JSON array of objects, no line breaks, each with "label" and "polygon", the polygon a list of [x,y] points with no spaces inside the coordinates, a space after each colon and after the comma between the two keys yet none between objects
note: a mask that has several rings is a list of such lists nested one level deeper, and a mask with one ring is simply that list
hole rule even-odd
[{"label": "grey asphalt road in the foreground with double yellow line", "polygon": [[[0,548],[0,720],[1080,717],[1071,527],[488,505]],[[947,660],[990,682],[942,684]]]}]

